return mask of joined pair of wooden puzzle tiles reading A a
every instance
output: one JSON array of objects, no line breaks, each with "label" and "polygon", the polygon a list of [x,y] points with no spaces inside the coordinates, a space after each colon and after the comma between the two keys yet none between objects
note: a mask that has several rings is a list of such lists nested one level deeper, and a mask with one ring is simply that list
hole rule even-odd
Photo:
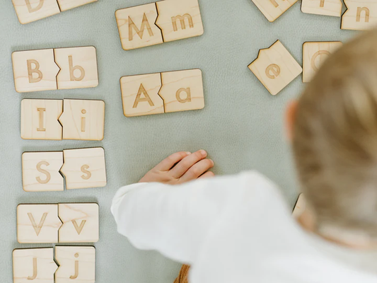
[{"label": "joined pair of wooden puzzle tiles reading A a", "polygon": [[126,117],[204,108],[202,71],[168,71],[120,79]]}]

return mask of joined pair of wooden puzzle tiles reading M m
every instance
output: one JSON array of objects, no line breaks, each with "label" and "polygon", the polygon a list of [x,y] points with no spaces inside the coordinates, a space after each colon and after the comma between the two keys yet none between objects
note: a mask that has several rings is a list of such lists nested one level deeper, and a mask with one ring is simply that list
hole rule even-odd
[{"label": "joined pair of wooden puzzle tiles reading M m", "polygon": [[198,0],[165,0],[115,12],[124,50],[204,33]]}]

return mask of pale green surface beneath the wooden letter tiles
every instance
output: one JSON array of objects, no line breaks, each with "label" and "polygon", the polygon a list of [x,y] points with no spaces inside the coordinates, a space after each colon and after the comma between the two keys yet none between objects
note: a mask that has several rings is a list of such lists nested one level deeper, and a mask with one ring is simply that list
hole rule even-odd
[{"label": "pale green surface beneath the wooden letter tiles", "polygon": [[[300,3],[269,23],[251,0],[199,0],[204,23],[201,37],[124,51],[115,10],[151,0],[99,0],[27,25],[18,23],[11,0],[0,9],[0,282],[12,282],[16,240],[16,206],[20,203],[98,202],[100,241],[98,283],[172,282],[179,265],[156,252],[139,251],[115,231],[110,203],[117,188],[134,183],[161,158],[174,151],[206,149],[217,174],[257,169],[282,188],[291,205],[298,185],[289,146],[284,140],[286,103],[303,88],[301,76],[271,96],[248,64],[260,48],[277,39],[302,62],[306,41],[347,40],[340,18],[301,13]],[[94,45],[100,84],[97,88],[20,94],[13,86],[11,52]],[[200,68],[204,110],[126,118],[122,113],[121,76]],[[106,103],[103,141],[25,141],[20,137],[22,98],[102,99]],[[27,193],[22,190],[23,151],[57,151],[103,146],[108,186],[90,190]],[[274,209],[266,207],[266,209]],[[51,245],[38,245],[49,247]],[[221,247],[219,247],[221,248]]]}]

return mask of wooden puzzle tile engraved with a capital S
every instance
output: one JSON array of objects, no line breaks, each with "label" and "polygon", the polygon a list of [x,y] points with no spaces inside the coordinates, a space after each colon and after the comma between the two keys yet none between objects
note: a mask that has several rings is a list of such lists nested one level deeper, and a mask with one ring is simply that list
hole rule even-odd
[{"label": "wooden puzzle tile engraved with a capital S", "polygon": [[24,152],[22,155],[22,180],[25,192],[64,190],[63,151]]}]

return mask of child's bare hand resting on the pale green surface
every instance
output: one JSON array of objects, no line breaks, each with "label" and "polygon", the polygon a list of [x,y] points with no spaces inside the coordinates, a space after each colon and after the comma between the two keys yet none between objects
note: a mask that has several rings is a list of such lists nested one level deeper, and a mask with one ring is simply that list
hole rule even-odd
[{"label": "child's bare hand resting on the pale green surface", "polygon": [[214,167],[214,161],[206,157],[207,152],[204,150],[194,154],[177,152],[146,173],[139,183],[158,182],[177,185],[197,178],[214,177],[214,173],[207,172]]}]

